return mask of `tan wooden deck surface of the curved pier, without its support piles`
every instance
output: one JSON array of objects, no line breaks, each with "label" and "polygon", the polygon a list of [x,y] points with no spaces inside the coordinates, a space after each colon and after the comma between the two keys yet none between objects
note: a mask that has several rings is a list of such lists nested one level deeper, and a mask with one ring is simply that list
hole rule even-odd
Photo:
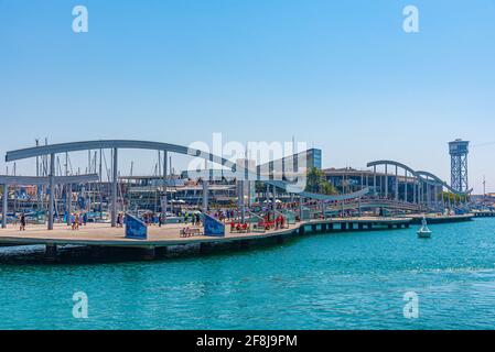
[{"label": "tan wooden deck surface of the curved pier, without its support piles", "polygon": [[[173,223],[162,227],[150,226],[148,228],[147,240],[126,239],[125,229],[111,228],[107,223],[89,223],[79,227],[79,230],[72,230],[66,224],[56,223],[54,230],[46,230],[45,226],[28,226],[25,231],[19,231],[18,227],[9,226],[0,229],[0,244],[22,245],[22,244],[78,244],[98,246],[129,246],[149,248],[183,245],[202,242],[225,242],[239,240],[256,240],[277,235],[287,235],[295,232],[311,231],[349,231],[370,230],[373,228],[407,227],[409,218],[334,218],[325,220],[311,220],[290,224],[284,229],[269,230],[266,232],[230,232],[226,226],[225,237],[195,235],[183,238],[180,231],[186,227],[184,223]],[[191,228],[191,224],[189,224]],[[300,230],[300,229],[304,230]],[[306,230],[308,229],[308,230]]]}]

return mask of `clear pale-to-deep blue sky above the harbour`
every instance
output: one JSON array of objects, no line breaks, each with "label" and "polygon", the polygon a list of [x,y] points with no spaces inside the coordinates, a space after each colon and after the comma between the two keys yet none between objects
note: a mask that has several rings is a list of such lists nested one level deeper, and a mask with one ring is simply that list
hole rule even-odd
[{"label": "clear pale-to-deep blue sky above the harbour", "polygon": [[[77,4],[88,33],[72,31]],[[446,143],[462,138],[471,186],[485,175],[495,191],[494,43],[493,0],[0,0],[0,152],[44,136],[294,135],[325,167],[392,158],[448,179]],[[155,162],[122,157],[141,173]]]}]

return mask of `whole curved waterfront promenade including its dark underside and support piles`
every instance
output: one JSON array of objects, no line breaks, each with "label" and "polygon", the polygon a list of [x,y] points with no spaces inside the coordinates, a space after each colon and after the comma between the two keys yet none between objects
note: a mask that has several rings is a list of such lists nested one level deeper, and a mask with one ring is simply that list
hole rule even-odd
[{"label": "whole curved waterfront promenade including its dark underside and support piles", "polygon": [[[429,219],[433,219],[431,216]],[[439,217],[433,222],[469,221],[472,215]],[[250,244],[266,243],[275,240],[281,243],[286,239],[313,233],[332,233],[345,231],[372,231],[406,229],[417,222],[417,217],[359,217],[359,218],[326,218],[300,221],[288,224],[283,229],[270,229],[267,231],[248,232],[230,231],[226,224],[224,237],[207,237],[204,234],[182,237],[181,230],[195,228],[185,223],[165,224],[162,227],[148,227],[146,240],[128,239],[125,228],[111,228],[108,223],[89,223],[82,226],[79,230],[72,230],[65,223],[56,223],[53,230],[46,230],[43,224],[31,224],[25,231],[19,231],[18,227],[9,226],[0,230],[0,245],[45,245],[46,257],[54,258],[57,248],[63,245],[85,245],[95,249],[127,248],[143,249],[146,258],[153,258],[155,250],[164,251],[171,246],[198,245],[200,251],[218,244],[235,244],[248,248]],[[202,229],[201,227],[196,227]]]}]

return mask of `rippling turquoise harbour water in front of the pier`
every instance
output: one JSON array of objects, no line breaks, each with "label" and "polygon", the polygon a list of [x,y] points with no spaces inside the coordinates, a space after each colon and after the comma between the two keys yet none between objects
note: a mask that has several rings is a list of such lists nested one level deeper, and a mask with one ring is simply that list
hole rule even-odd
[{"label": "rippling turquoise harbour water in front of the pier", "polygon": [[[493,329],[495,219],[430,228],[431,240],[411,228],[154,262],[7,262],[0,329]],[[88,319],[73,317],[76,292]],[[402,315],[407,292],[418,319]]]}]

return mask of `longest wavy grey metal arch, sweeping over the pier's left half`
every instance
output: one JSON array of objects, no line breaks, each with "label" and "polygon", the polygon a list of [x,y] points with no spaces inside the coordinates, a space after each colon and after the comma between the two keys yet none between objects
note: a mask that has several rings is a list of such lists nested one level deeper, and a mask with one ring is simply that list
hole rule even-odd
[{"label": "longest wavy grey metal arch, sweeping over the pier's left half", "polygon": [[[42,145],[28,147],[17,151],[10,151],[6,154],[6,162],[13,162],[18,160],[49,155],[49,154],[60,154],[67,152],[78,152],[78,151],[87,151],[87,150],[99,150],[99,148],[139,148],[139,150],[154,150],[154,151],[168,151],[177,154],[190,155],[194,157],[201,157],[207,160],[209,162],[219,164],[225,167],[229,167],[234,173],[243,174],[246,169],[226,158],[220,156],[196,150],[191,148],[183,145],[171,144],[171,143],[162,143],[162,142],[150,142],[150,141],[133,141],[133,140],[99,140],[99,141],[84,141],[84,142],[71,142],[71,143],[60,143],[52,145]],[[247,169],[247,174],[249,176],[256,177],[256,174]],[[290,183],[282,180],[272,180],[266,177],[259,177],[259,180],[281,188],[286,191],[291,193],[288,188],[292,188]],[[292,191],[293,193],[293,191]],[[313,193],[298,193],[301,197],[312,198],[318,200],[326,200],[326,201],[337,201],[337,200],[347,200],[362,197],[369,193],[369,188],[362,189],[361,191],[347,195],[340,196],[326,196]]]}]

